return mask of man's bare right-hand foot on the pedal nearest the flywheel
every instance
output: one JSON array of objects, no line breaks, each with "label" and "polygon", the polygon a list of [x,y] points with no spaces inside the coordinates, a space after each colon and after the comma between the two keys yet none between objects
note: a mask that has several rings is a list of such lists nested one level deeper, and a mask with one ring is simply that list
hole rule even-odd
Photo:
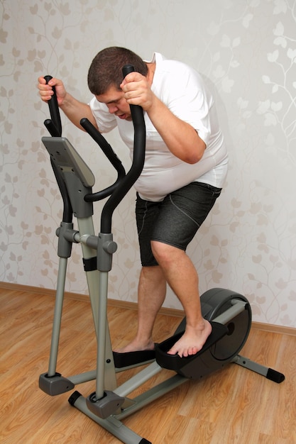
[{"label": "man's bare right-hand foot on the pedal nearest the flywheel", "polygon": [[209,321],[203,320],[201,328],[192,328],[186,326],[184,335],[172,346],[168,351],[169,355],[179,355],[180,357],[187,357],[196,355],[199,350],[202,350],[204,343],[209,335],[212,333],[212,326]]}]

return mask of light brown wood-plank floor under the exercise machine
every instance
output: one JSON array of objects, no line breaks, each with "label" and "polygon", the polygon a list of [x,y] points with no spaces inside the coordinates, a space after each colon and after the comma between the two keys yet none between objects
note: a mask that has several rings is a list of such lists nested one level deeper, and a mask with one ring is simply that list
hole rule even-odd
[{"label": "light brown wood-plank floor under the exercise machine", "polygon": [[[119,443],[70,406],[71,392],[52,397],[38,388],[39,375],[48,370],[53,297],[0,289],[0,304],[0,443]],[[70,376],[93,370],[88,302],[66,298],[62,322],[57,371]],[[109,322],[119,346],[132,337],[136,312],[109,307]],[[167,338],[179,322],[160,315],[155,340]],[[252,329],[241,354],[283,372],[285,381],[276,384],[231,364],[202,381],[185,382],[124,423],[153,444],[295,444],[296,336]],[[168,374],[163,370],[146,386]],[[87,396],[94,382],[77,390]]]}]

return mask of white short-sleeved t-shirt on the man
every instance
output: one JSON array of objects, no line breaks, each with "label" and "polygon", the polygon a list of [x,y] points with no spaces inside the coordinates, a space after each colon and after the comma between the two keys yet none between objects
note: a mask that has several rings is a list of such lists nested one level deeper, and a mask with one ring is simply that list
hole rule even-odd
[{"label": "white short-sleeved t-shirt on the man", "polygon": [[[219,128],[214,100],[202,77],[191,67],[175,60],[166,60],[155,52],[155,73],[152,91],[178,118],[197,131],[207,145],[199,162],[189,164],[172,155],[147,113],[146,157],[143,171],[134,187],[142,199],[161,201],[170,192],[191,182],[204,182],[221,188],[227,172],[227,151]],[[94,97],[89,103],[102,133],[118,126],[122,140],[133,157],[133,123],[109,113],[105,104]]]}]

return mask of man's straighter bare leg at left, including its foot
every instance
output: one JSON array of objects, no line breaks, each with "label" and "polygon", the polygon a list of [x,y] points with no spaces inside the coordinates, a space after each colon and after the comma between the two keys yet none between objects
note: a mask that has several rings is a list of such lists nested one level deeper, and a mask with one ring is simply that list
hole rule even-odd
[{"label": "man's straighter bare leg at left, including its foot", "polygon": [[166,282],[163,270],[158,267],[143,267],[138,283],[138,331],[136,338],[117,353],[153,350],[153,325],[165,300]]}]

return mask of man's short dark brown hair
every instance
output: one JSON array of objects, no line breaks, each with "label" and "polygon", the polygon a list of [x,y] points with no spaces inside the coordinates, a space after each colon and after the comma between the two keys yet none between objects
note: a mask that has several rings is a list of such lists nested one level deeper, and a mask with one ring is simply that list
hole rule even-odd
[{"label": "man's short dark brown hair", "polygon": [[87,83],[92,94],[100,96],[110,87],[120,89],[120,84],[124,79],[122,68],[127,64],[133,65],[135,71],[144,76],[148,74],[146,63],[131,50],[112,46],[100,51],[92,60],[87,76]]}]

